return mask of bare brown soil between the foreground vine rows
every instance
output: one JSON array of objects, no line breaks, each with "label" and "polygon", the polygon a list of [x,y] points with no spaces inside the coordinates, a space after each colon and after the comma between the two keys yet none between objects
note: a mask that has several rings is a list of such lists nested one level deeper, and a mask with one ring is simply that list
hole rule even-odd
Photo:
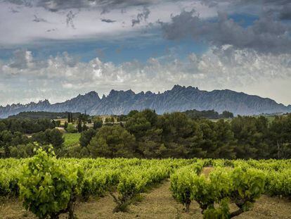
[{"label": "bare brown soil between the foreground vine rows", "polygon": [[[212,168],[204,168],[203,174],[208,175]],[[136,204],[129,206],[127,213],[112,213],[115,202],[112,196],[105,196],[98,200],[91,200],[86,203],[78,202],[75,207],[77,218],[202,218],[200,208],[196,202],[190,204],[189,213],[183,212],[183,206],[177,203],[169,190],[170,182],[165,180],[159,186],[150,189],[142,194],[143,199]],[[235,205],[231,205],[235,209]],[[61,218],[66,218],[62,215]],[[18,200],[2,201],[0,204],[0,218],[34,218],[32,213],[25,211]],[[251,211],[242,213],[236,218],[242,219],[263,219],[263,218],[291,218],[291,201],[262,195],[254,204]]]}]

